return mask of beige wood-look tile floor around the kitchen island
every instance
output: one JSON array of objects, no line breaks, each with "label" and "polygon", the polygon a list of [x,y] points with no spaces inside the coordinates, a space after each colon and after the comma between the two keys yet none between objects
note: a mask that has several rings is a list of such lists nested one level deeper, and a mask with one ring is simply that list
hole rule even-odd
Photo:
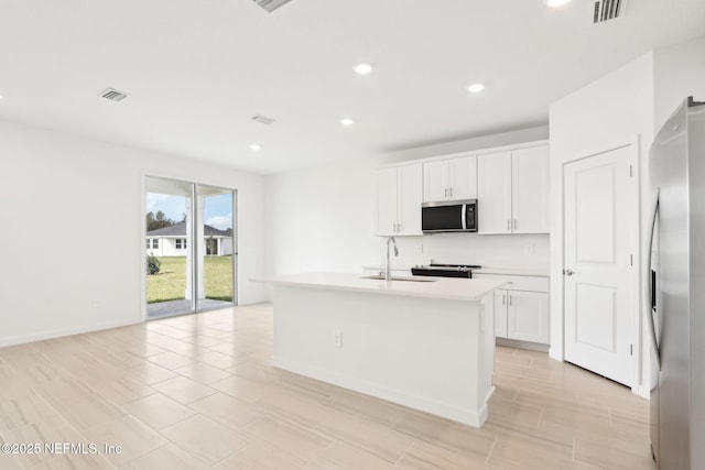
[{"label": "beige wood-look tile floor around the kitchen island", "polygon": [[263,304],[0,349],[0,444],[85,446],[0,468],[653,468],[648,402],[544,353],[497,348],[475,429],[276,370],[271,343]]}]

